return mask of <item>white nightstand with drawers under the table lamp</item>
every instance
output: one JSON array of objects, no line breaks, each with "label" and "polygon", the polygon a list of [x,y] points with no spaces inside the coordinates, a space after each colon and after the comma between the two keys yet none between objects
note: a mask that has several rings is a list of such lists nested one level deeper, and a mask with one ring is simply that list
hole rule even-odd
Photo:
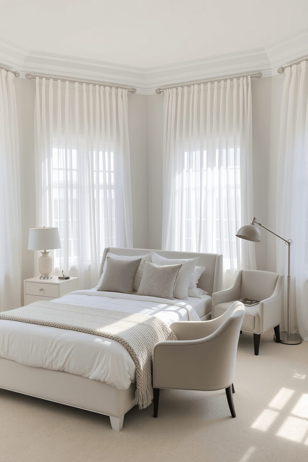
[{"label": "white nightstand with drawers under the table lamp", "polygon": [[53,300],[66,293],[79,289],[79,278],[71,277],[70,279],[58,279],[53,276],[52,279],[30,278],[24,280],[24,304],[29,305],[38,300]]}]

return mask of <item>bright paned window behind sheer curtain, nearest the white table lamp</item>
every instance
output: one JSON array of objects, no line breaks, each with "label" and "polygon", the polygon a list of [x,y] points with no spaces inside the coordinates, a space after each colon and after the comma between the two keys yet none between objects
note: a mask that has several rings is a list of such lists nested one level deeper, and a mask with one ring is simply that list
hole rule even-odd
[{"label": "bright paned window behind sheer curtain, nearest the white table lamp", "polygon": [[[90,169],[83,169],[82,154],[77,149],[52,150],[52,225],[59,228],[61,249],[65,241],[66,257],[70,267],[77,267],[79,255],[80,229],[79,216],[89,217],[92,214],[88,195],[94,197],[95,230],[88,230],[97,234],[99,246],[99,260],[102,259],[106,247],[106,236],[111,236],[112,245],[115,245],[115,167],[113,152],[89,153]],[[91,186],[89,193],[88,187]],[[90,223],[90,219],[89,219]],[[84,255],[85,261],[91,261],[91,240],[87,240]],[[63,250],[56,249],[54,266],[60,268]]]}]

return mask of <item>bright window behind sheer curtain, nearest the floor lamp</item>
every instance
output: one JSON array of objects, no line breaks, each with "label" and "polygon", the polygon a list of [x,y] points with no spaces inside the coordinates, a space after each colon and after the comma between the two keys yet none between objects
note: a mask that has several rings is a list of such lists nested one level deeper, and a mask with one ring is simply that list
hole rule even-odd
[{"label": "bright window behind sheer curtain, nearest the floor lamp", "polygon": [[[206,143],[205,143],[206,144]],[[225,269],[237,270],[236,231],[241,220],[240,149],[184,152],[182,189],[183,248],[223,253]],[[201,220],[201,224],[200,224]],[[212,227],[209,233],[209,226]],[[205,232],[202,232],[205,231]],[[206,232],[207,231],[207,232]],[[211,242],[210,242],[211,241]]]}]

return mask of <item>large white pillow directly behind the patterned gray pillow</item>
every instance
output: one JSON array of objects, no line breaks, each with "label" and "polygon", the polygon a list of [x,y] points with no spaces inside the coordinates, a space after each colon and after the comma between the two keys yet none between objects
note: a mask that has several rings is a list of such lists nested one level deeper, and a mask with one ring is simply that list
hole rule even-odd
[{"label": "large white pillow directly behind the patterned gray pillow", "polygon": [[181,269],[175,281],[174,298],[188,300],[188,287],[192,279],[194,268],[199,257],[189,259],[165,258],[152,252],[152,263],[156,265],[178,265],[181,263]]}]

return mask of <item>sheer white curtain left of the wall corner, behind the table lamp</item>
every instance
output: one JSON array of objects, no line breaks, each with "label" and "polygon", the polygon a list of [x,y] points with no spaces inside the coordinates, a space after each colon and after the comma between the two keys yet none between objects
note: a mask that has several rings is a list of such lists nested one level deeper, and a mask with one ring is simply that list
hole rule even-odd
[{"label": "sheer white curtain left of the wall corner, behind the table lamp", "polygon": [[103,249],[132,247],[127,90],[36,78],[37,226],[58,226],[55,272],[93,287]]}]

